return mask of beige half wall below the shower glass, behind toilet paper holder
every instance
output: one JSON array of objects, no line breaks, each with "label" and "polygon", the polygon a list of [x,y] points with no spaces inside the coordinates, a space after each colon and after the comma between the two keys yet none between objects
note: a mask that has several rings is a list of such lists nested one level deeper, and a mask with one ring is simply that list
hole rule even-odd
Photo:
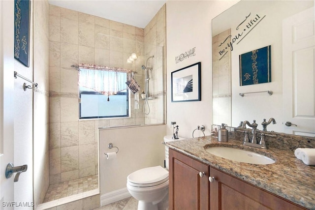
[{"label": "beige half wall below the shower glass, behind toilet paper holder", "polygon": [[[120,189],[126,189],[127,176],[141,168],[164,167],[165,125],[152,125],[99,131],[99,164],[101,197]],[[119,148],[115,159],[106,159],[108,144]]]}]

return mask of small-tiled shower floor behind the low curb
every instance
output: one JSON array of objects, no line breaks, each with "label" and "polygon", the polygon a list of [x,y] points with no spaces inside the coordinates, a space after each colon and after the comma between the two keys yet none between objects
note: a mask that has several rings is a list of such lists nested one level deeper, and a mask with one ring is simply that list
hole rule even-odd
[{"label": "small-tiled shower floor behind the low curb", "polygon": [[43,203],[98,188],[98,175],[50,184]]}]

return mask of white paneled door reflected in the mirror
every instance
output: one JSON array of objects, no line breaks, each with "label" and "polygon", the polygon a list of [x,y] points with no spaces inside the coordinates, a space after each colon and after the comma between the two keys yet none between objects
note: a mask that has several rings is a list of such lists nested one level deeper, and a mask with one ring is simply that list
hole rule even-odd
[{"label": "white paneled door reflected in the mirror", "polygon": [[314,7],[283,21],[284,133],[315,136],[314,24]]}]

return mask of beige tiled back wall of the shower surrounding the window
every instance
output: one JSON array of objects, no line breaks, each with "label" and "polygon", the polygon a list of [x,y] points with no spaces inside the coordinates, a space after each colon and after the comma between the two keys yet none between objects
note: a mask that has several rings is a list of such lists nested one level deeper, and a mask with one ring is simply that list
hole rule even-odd
[{"label": "beige tiled back wall of the shower surrounding the window", "polygon": [[[145,45],[143,29],[54,5],[49,11],[49,164],[50,184],[54,184],[98,174],[98,127],[144,124],[145,120],[143,101],[135,110],[131,97],[131,118],[79,121],[78,72],[70,66],[95,63],[131,68],[144,87]],[[139,59],[126,63],[134,52]]]}]

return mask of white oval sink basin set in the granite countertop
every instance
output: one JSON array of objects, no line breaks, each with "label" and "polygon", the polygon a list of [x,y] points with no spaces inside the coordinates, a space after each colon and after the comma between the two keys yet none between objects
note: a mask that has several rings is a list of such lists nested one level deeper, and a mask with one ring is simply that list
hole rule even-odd
[{"label": "white oval sink basin set in the granite countertop", "polygon": [[258,154],[252,151],[240,150],[229,147],[210,147],[205,149],[207,152],[219,157],[223,157],[229,160],[234,160],[242,163],[252,164],[273,164],[275,161],[265,155]]}]

